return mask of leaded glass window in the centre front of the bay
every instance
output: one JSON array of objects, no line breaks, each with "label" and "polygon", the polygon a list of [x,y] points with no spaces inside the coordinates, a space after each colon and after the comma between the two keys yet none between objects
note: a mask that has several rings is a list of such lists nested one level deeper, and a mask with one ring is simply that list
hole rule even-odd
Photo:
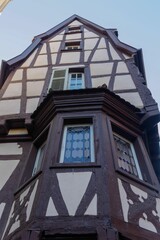
[{"label": "leaded glass window in the centre front of the bay", "polygon": [[93,129],[91,125],[65,127],[60,162],[94,162]]}]

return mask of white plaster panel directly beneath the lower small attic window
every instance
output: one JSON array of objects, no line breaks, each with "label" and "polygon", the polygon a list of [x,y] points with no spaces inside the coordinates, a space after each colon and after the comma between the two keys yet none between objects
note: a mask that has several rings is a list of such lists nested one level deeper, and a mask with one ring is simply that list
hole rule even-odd
[{"label": "white plaster panel directly beneath the lower small attic window", "polygon": [[80,52],[63,52],[60,63],[77,63],[80,61]]}]

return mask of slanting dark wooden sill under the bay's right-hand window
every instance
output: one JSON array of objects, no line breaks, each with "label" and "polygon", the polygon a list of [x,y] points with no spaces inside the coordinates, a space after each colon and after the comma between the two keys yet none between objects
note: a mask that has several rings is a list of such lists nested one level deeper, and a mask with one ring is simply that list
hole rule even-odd
[{"label": "slanting dark wooden sill under the bay's right-hand window", "polygon": [[125,177],[125,181],[126,181],[126,178],[131,179],[134,182],[137,182],[140,185],[143,185],[151,190],[154,190],[156,193],[159,193],[158,186],[154,186],[154,185],[152,185],[152,183],[145,182],[144,180],[134,177],[134,176],[130,175],[129,173],[124,172],[123,170],[120,170],[120,169],[116,169],[116,172],[119,173],[121,176]]}]

